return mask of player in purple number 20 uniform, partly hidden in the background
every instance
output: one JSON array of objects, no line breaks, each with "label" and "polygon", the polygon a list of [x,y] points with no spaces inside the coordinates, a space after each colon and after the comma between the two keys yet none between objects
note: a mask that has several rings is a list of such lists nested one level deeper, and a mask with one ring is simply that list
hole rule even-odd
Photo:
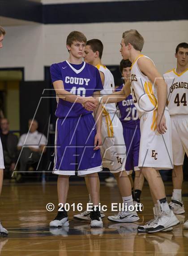
[{"label": "player in purple number 20 uniform, partly hidden in the background", "polygon": [[[122,59],[120,62],[120,72],[124,83],[130,80],[131,62],[127,59]],[[124,84],[116,88],[119,91]],[[135,171],[134,190],[132,191],[132,198],[134,204],[140,202],[141,190],[144,184],[144,176],[138,168],[139,147],[141,139],[140,119],[138,118],[137,108],[132,99],[132,94],[129,94],[126,99],[117,103],[120,110],[120,121],[124,131],[124,141],[127,148],[127,159],[125,170],[130,171],[129,178],[132,180],[132,170]],[[132,182],[133,184],[133,182]]]}]

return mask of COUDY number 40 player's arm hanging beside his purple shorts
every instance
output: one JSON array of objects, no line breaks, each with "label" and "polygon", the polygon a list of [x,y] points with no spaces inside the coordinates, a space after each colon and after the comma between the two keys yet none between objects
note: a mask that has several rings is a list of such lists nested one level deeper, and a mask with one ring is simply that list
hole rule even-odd
[{"label": "COUDY number 40 player's arm hanging beside his purple shorts", "polygon": [[[100,97],[100,91],[94,92],[93,96]],[[101,138],[102,112],[103,112],[102,105],[99,105],[98,108],[94,109],[94,119],[96,122],[96,129],[97,129],[97,133],[94,138],[94,150],[99,149],[100,145],[102,144],[102,138]]]}]

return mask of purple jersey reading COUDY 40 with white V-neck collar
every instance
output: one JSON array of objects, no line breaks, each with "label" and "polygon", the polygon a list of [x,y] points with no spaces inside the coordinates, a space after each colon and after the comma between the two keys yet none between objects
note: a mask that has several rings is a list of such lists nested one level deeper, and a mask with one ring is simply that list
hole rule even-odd
[{"label": "purple jersey reading COUDY 40 with white V-neck collar", "polygon": [[[96,67],[83,62],[77,70],[68,61],[52,64],[50,67],[51,81],[61,80],[64,90],[83,97],[92,96],[94,91],[103,90],[103,84]],[[80,103],[71,103],[59,99],[56,109],[56,117],[78,117],[81,114],[91,113],[82,107]]]}]

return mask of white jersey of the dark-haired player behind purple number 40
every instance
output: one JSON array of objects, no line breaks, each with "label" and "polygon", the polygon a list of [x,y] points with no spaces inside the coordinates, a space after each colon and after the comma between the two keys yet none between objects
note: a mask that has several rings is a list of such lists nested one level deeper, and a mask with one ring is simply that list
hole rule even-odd
[{"label": "white jersey of the dark-haired player behind purple number 40", "polygon": [[[114,77],[112,73],[104,65],[97,65],[96,67],[104,74],[103,90],[100,91],[101,96],[112,94],[115,91]],[[117,112],[115,103],[103,104],[103,115],[115,112]]]}]

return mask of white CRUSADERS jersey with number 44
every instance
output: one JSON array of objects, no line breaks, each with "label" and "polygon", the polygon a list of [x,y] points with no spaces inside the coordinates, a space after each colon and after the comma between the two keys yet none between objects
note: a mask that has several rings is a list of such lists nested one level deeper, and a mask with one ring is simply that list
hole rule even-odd
[{"label": "white CRUSADERS jersey with number 44", "polygon": [[170,115],[188,114],[188,68],[181,74],[175,68],[164,75]]}]

